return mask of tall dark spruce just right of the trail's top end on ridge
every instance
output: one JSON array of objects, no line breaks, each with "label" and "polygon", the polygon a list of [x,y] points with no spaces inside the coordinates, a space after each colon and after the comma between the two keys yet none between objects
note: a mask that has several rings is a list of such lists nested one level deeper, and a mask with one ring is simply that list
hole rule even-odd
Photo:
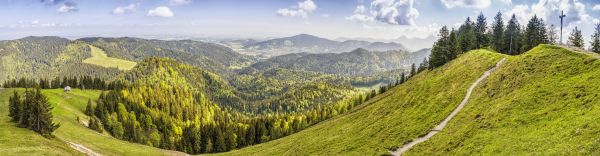
[{"label": "tall dark spruce just right of the trail's top end on ridge", "polygon": [[506,46],[505,54],[519,54],[519,49],[521,49],[521,25],[519,25],[515,14],[512,15],[506,25],[503,44]]}]

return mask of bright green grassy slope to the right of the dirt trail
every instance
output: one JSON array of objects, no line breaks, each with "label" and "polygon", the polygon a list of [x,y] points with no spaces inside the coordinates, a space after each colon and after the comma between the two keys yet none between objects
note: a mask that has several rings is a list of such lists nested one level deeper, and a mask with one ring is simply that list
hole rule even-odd
[{"label": "bright green grassy slope to the right of the dirt trail", "polygon": [[508,58],[410,155],[598,155],[600,61],[553,46]]}]

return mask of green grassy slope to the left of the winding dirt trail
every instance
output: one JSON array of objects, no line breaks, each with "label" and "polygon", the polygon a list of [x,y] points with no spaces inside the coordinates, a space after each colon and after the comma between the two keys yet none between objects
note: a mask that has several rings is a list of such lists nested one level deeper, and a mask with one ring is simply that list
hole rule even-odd
[{"label": "green grassy slope to the left of the winding dirt trail", "polygon": [[[224,155],[373,155],[426,134],[503,55],[472,51],[378,96],[364,108],[299,133]],[[477,60],[477,61],[474,61]],[[451,68],[453,70],[447,70]]]}]

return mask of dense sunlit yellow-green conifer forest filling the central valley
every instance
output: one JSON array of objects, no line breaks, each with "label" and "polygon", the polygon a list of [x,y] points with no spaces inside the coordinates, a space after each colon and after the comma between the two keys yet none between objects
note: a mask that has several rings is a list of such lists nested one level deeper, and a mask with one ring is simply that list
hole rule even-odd
[{"label": "dense sunlit yellow-green conifer forest filling the central valley", "polygon": [[[376,94],[328,93],[327,88],[335,87],[315,83],[283,95],[282,99],[299,103],[273,101],[258,107],[270,111],[248,114],[234,110],[234,103],[227,104],[233,100],[226,98],[237,98],[218,76],[172,59],[146,59],[120,78],[127,87],[102,93],[95,106],[88,104],[86,112],[94,116],[90,128],[187,153],[222,152],[280,138],[344,113]],[[213,89],[221,92],[209,92]],[[324,98],[314,98],[321,94]],[[340,95],[345,96],[336,98]]]}]

